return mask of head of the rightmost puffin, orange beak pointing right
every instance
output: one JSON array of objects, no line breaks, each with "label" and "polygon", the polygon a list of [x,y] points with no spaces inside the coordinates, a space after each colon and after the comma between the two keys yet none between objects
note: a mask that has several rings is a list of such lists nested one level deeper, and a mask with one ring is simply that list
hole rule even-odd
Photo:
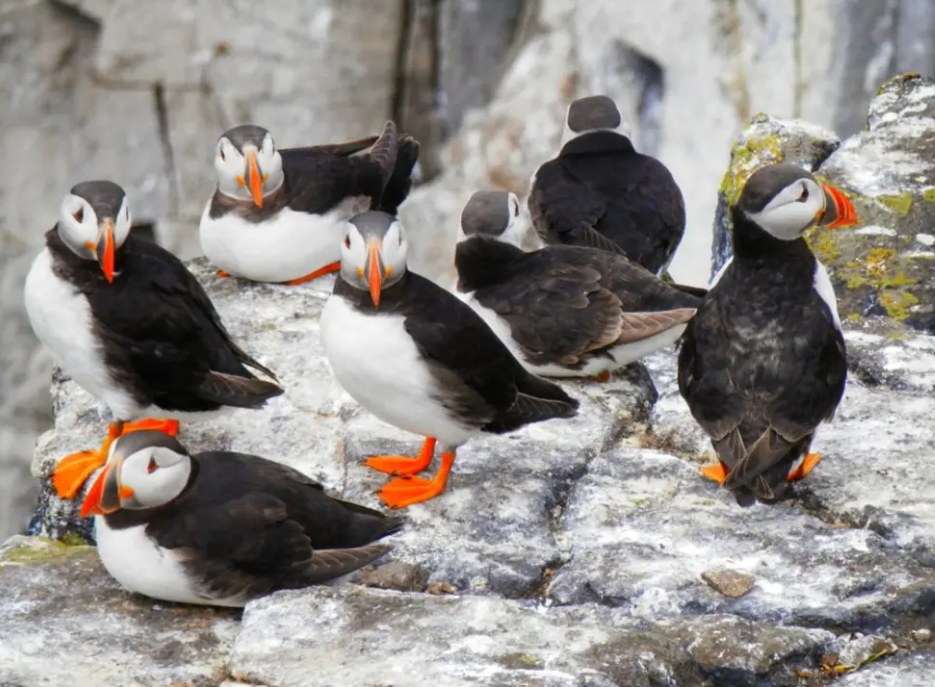
[{"label": "head of the rightmost puffin, orange beak pointing right", "polygon": [[854,206],[843,193],[818,183],[807,170],[789,162],[754,172],[736,210],[782,241],[799,238],[817,223],[829,227],[857,223]]}]

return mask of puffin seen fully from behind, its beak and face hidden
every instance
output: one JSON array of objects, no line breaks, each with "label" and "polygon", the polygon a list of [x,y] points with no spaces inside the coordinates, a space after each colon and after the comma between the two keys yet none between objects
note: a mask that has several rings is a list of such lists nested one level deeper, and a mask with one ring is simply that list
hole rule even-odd
[{"label": "puffin seen fully from behind, its beak and face hidden", "polygon": [[569,105],[558,155],[533,174],[529,213],[547,244],[590,246],[659,274],[685,232],[685,200],[668,168],[638,153],[605,95]]}]

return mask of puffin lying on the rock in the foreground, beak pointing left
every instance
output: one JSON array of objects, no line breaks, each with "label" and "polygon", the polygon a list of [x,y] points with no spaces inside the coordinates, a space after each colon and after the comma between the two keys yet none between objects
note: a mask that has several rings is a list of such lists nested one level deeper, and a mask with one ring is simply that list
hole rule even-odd
[{"label": "puffin lying on the rock in the foreground, beak pointing left", "polygon": [[233,607],[368,565],[403,524],[272,460],[191,454],[152,430],[111,444],[81,516],[94,517],[101,562],[126,589]]}]

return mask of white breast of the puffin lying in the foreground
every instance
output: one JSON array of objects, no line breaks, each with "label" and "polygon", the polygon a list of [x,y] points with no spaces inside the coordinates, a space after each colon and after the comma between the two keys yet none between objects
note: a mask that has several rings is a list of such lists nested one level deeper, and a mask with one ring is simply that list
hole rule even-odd
[{"label": "white breast of the puffin lying in the foreground", "polygon": [[97,552],[107,572],[131,592],[178,603],[243,606],[239,599],[210,599],[189,579],[181,556],[159,548],[146,535],[145,525],[118,530],[101,516],[94,518]]}]

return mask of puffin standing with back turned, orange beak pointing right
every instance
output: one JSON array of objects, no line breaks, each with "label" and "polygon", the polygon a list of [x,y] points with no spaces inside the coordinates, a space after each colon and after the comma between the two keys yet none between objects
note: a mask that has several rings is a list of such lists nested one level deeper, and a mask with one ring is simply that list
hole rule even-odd
[{"label": "puffin standing with back turned, orange beak pointing right", "polygon": [[718,462],[702,473],[740,506],[781,500],[821,460],[847,351],[828,272],[803,234],[857,223],[841,191],[791,163],[763,167],[730,208],[734,255],[685,330],[678,386]]}]

